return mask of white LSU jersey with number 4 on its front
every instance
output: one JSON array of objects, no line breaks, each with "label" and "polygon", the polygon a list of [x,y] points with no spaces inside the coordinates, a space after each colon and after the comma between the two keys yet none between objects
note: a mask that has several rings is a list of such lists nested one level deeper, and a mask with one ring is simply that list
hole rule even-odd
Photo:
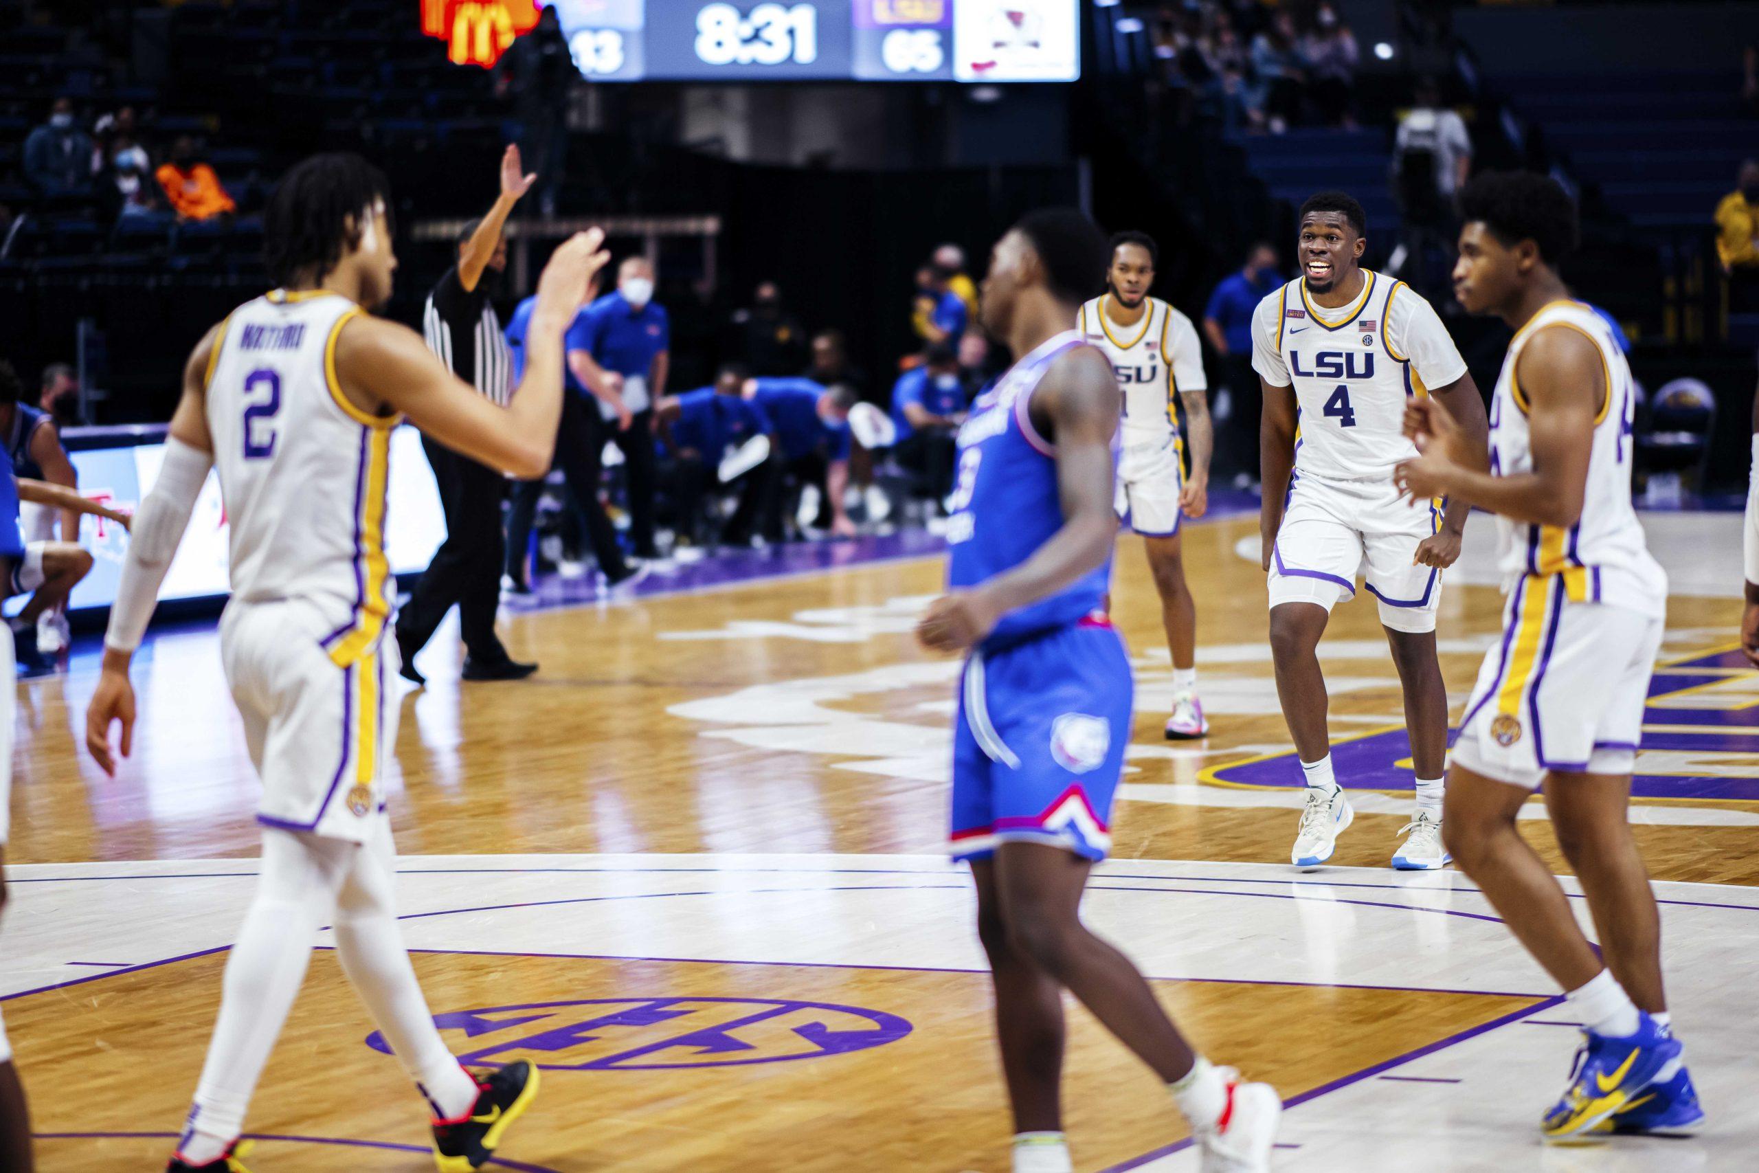
[{"label": "white LSU jersey with number 4 on its front", "polygon": [[1465,375],[1435,310],[1404,281],[1369,269],[1354,302],[1326,310],[1296,278],[1252,315],[1252,368],[1293,387],[1296,475],[1381,480],[1416,455],[1404,436],[1405,399]]}]

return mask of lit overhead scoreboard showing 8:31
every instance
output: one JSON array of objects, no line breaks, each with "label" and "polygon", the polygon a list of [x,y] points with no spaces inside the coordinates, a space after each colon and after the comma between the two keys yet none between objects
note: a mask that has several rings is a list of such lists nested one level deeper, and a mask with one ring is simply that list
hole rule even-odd
[{"label": "lit overhead scoreboard showing 8:31", "polygon": [[1080,0],[549,2],[593,81],[1080,76]]}]

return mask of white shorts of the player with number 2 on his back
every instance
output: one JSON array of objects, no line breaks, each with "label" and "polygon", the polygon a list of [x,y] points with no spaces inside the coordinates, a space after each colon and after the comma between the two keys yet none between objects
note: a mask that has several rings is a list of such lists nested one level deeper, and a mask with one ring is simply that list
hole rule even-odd
[{"label": "white shorts of the player with number 2 on his back", "polygon": [[366,842],[385,816],[398,739],[398,703],[385,689],[401,661],[385,635],[338,665],[320,644],[329,626],[297,600],[234,601],[220,619],[220,659],[262,777],[257,821]]}]

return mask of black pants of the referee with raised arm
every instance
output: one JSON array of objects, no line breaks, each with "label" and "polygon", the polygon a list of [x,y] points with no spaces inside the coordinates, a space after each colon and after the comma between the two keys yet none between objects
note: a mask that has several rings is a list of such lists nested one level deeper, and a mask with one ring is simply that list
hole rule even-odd
[{"label": "black pants of the referee with raised arm", "polygon": [[507,478],[427,436],[422,436],[422,450],[440,485],[445,542],[434,550],[408,605],[398,612],[403,663],[415,659],[454,605],[470,658],[500,663],[507,659],[507,649],[494,633],[494,612],[501,603],[501,499]]}]

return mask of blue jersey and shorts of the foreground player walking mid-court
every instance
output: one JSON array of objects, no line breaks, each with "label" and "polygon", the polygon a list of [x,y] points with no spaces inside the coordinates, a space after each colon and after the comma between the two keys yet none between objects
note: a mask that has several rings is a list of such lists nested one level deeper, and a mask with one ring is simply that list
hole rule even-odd
[{"label": "blue jersey and shorts of the foreground player walking mid-court", "polygon": [[[1078,345],[1069,331],[1025,355],[978,396],[959,429],[950,587],[1018,566],[1062,528],[1055,448],[1033,427],[1027,404],[1050,364]],[[953,858],[987,858],[1003,841],[1047,842],[1089,860],[1110,849],[1135,693],[1124,642],[1105,617],[1110,579],[1108,557],[1003,616],[966,659],[953,730]]]}]

